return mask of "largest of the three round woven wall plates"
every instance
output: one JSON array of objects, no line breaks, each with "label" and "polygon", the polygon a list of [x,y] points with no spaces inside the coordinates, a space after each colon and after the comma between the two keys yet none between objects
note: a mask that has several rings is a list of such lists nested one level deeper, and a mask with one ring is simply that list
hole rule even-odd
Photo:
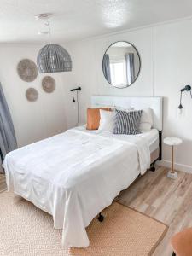
[{"label": "largest of the three round woven wall plates", "polygon": [[35,62],[24,59],[21,60],[17,65],[17,73],[20,76],[20,79],[26,82],[34,81],[38,76],[38,67]]}]

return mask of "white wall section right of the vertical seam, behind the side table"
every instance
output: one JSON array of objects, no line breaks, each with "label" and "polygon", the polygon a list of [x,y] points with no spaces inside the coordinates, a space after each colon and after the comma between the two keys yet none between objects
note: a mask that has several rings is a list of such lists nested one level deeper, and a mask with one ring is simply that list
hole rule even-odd
[{"label": "white wall section right of the vertical seam, behind the side table", "polygon": [[[157,26],[154,31],[154,93],[165,96],[164,137],[183,138],[177,148],[176,168],[192,172],[192,99],[183,94],[185,117],[177,118],[179,90],[192,84],[192,20]],[[164,147],[163,159],[171,157],[170,148]]]}]

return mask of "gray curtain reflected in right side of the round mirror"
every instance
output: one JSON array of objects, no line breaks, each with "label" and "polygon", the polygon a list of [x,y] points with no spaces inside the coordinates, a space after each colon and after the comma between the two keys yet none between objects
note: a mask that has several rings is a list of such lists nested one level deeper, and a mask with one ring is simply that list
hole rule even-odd
[{"label": "gray curtain reflected in right side of the round mirror", "polygon": [[126,61],[126,77],[127,77],[127,84],[132,84],[135,80],[135,63],[134,63],[134,54],[129,53],[125,55]]}]

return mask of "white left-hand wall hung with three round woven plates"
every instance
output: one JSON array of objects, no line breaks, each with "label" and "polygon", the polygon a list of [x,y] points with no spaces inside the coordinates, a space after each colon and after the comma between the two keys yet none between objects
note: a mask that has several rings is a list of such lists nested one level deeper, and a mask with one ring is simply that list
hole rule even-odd
[{"label": "white left-hand wall hung with three round woven plates", "polygon": [[[67,127],[65,73],[51,74],[55,79],[56,89],[48,94],[41,87],[43,74],[38,74],[33,82],[26,83],[16,72],[21,59],[36,61],[40,47],[42,45],[0,44],[0,81],[9,104],[19,146],[55,135],[65,131]],[[37,102],[26,100],[25,93],[29,87],[38,90]]]}]

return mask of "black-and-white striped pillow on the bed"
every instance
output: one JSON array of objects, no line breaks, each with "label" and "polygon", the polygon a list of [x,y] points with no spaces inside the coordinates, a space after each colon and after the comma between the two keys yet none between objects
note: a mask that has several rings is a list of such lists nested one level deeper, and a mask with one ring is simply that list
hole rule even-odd
[{"label": "black-and-white striped pillow on the bed", "polygon": [[138,134],[142,110],[125,112],[115,109],[114,134]]}]

